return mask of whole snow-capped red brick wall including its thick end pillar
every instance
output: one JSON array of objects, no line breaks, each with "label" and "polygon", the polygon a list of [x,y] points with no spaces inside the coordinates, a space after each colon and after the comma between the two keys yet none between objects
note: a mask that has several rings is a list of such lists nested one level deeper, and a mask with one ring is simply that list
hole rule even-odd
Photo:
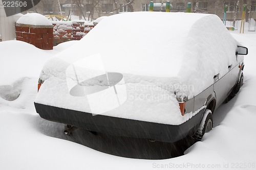
[{"label": "whole snow-capped red brick wall including its thick end pillar", "polygon": [[93,27],[88,21],[50,21],[37,13],[28,13],[15,23],[16,39],[42,50],[52,50],[53,45],[62,42],[80,40]]}]

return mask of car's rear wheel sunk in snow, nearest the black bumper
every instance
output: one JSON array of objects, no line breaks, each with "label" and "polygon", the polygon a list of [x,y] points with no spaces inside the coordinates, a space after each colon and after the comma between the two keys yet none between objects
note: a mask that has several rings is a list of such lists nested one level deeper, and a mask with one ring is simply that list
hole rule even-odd
[{"label": "car's rear wheel sunk in snow, nearest the black bumper", "polygon": [[201,120],[201,123],[199,125],[198,131],[195,135],[195,139],[197,141],[201,141],[203,138],[203,135],[207,132],[209,132],[213,127],[213,121],[212,121],[212,113],[211,110],[206,109],[203,115],[203,118]]}]

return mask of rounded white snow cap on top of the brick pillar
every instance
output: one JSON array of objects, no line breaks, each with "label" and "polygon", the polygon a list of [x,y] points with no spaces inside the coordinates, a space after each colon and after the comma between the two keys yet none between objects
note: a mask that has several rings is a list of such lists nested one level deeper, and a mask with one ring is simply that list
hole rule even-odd
[{"label": "rounded white snow cap on top of the brick pillar", "polygon": [[52,26],[47,17],[38,13],[27,13],[20,17],[16,23],[32,25],[32,26]]}]

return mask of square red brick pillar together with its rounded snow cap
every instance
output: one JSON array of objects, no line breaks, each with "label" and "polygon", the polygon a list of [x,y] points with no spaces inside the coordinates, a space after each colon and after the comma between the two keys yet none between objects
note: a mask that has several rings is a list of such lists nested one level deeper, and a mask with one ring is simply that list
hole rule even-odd
[{"label": "square red brick pillar together with its rounded snow cap", "polygon": [[35,45],[42,50],[53,49],[52,23],[40,14],[26,14],[15,23],[16,40]]}]

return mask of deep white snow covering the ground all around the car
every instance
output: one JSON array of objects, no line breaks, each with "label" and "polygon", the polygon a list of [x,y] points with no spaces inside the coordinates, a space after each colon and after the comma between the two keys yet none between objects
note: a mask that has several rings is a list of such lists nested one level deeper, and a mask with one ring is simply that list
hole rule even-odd
[{"label": "deep white snow covering the ground all around the car", "polygon": [[217,110],[215,128],[201,142],[183,156],[164,160],[117,157],[63,140],[63,125],[35,112],[42,66],[75,42],[52,51],[19,41],[0,42],[0,169],[256,169],[256,33],[232,35],[249,49],[244,85]]}]

